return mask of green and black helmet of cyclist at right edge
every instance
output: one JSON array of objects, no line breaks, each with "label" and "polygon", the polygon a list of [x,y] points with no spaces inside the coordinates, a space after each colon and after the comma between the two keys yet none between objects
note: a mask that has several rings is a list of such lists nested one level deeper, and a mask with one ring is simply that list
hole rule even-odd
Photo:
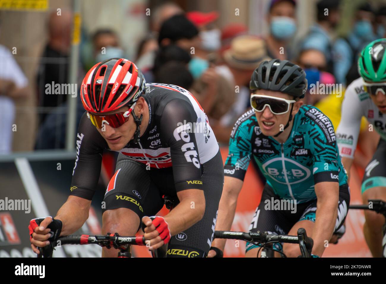
[{"label": "green and black helmet of cyclist at right edge", "polygon": [[358,72],[364,81],[386,82],[386,39],[376,39],[362,49]]}]

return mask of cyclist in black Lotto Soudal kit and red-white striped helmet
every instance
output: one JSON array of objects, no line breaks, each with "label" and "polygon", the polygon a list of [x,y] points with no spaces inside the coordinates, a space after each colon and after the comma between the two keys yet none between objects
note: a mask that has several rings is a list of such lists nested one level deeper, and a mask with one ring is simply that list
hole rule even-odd
[{"label": "cyclist in black Lotto Soudal kit and red-white striped helmet", "polygon": [[[150,250],[168,243],[168,257],[206,257],[217,219],[223,163],[207,116],[184,88],[146,84],[129,60],[113,58],[88,71],[86,109],[76,141],[70,196],[55,218],[30,222],[32,249],[78,230],[88,218],[104,149],[119,151],[105,192],[102,233],[134,235],[144,224]],[[164,217],[163,196],[174,208]],[[152,217],[148,217],[152,216]],[[53,220],[53,221],[52,221]],[[49,231],[54,236],[49,238]],[[102,256],[116,256],[103,248]]]}]

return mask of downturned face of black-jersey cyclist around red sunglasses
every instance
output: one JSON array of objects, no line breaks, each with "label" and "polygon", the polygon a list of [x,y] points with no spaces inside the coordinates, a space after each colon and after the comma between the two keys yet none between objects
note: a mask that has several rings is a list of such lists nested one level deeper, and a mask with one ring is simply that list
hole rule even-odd
[{"label": "downturned face of black-jersey cyclist around red sunglasses", "polygon": [[[121,107],[117,111],[106,112],[105,114],[113,114],[119,112],[125,112],[129,107]],[[117,128],[113,128],[108,124],[104,124],[105,127],[97,128],[102,137],[106,140],[108,147],[113,151],[119,151],[129,143],[134,137],[137,125],[134,122],[132,114],[129,116],[129,120]]]}]

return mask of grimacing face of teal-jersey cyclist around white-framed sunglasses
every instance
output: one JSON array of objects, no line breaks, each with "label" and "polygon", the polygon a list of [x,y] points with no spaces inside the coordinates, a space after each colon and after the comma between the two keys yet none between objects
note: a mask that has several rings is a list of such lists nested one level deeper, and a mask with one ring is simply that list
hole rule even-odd
[{"label": "grimacing face of teal-jersey cyclist around white-framed sunglasses", "polygon": [[[269,95],[272,97],[293,100],[293,97],[288,94],[283,94],[281,92],[273,92],[269,90],[256,90],[254,94],[257,95]],[[296,104],[299,104],[298,102]],[[291,111],[291,105],[289,106],[289,111],[285,114],[273,114],[269,107],[265,106],[262,112],[255,112],[257,122],[259,123],[261,132],[266,136],[274,136],[279,133],[279,131],[283,130],[284,126],[286,126],[289,114]],[[293,114],[295,111],[295,105],[293,108]],[[282,126],[282,127],[281,127]]]}]

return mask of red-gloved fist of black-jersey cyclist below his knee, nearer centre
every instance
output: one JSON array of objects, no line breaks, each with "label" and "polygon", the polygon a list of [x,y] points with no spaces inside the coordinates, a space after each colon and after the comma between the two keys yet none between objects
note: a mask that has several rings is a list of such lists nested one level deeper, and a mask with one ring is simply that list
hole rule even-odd
[{"label": "red-gloved fist of black-jersey cyclist below his knee, nearer centre", "polygon": [[145,224],[144,237],[146,245],[149,243],[150,250],[156,250],[168,243],[171,238],[169,225],[160,216],[144,216],[142,222]]}]

